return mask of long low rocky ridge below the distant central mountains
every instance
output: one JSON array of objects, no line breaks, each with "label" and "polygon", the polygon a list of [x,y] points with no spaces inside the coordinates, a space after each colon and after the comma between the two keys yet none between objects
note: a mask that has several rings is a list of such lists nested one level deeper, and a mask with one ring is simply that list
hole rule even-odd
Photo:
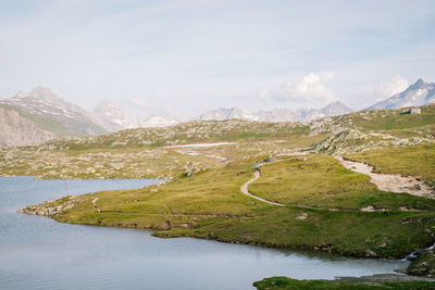
[{"label": "long low rocky ridge below the distant central mountains", "polygon": [[240,119],[187,122],[165,128],[137,128],[47,143],[53,149],[153,148],[170,144],[295,138],[307,135],[300,123],[258,123]]}]

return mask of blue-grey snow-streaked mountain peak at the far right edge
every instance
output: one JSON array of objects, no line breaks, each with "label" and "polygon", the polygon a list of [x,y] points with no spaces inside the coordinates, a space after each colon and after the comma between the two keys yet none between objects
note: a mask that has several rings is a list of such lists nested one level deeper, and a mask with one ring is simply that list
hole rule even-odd
[{"label": "blue-grey snow-streaked mountain peak at the far right edge", "polygon": [[435,103],[435,84],[426,83],[420,78],[405,91],[396,93],[384,101],[377,102],[369,109],[399,109],[403,106],[419,106],[431,103]]}]

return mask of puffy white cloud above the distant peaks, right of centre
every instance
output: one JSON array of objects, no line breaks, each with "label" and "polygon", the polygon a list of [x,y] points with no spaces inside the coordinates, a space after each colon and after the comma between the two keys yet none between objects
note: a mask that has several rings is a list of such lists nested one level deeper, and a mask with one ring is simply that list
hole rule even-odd
[{"label": "puffy white cloud above the distant peaks, right of centre", "polygon": [[337,100],[325,83],[334,77],[333,72],[310,73],[302,78],[290,79],[275,88],[263,89],[259,97],[275,102],[333,102]]}]

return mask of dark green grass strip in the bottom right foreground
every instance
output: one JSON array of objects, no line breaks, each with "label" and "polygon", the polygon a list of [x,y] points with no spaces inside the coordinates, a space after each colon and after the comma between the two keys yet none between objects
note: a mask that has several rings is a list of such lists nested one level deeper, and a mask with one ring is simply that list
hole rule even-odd
[{"label": "dark green grass strip in the bottom right foreground", "polygon": [[363,282],[349,282],[337,280],[297,280],[287,277],[265,278],[253,283],[259,290],[311,290],[311,289],[361,289],[361,290],[391,290],[391,289],[435,289],[434,281],[402,281],[402,282],[378,282],[375,285]]}]

